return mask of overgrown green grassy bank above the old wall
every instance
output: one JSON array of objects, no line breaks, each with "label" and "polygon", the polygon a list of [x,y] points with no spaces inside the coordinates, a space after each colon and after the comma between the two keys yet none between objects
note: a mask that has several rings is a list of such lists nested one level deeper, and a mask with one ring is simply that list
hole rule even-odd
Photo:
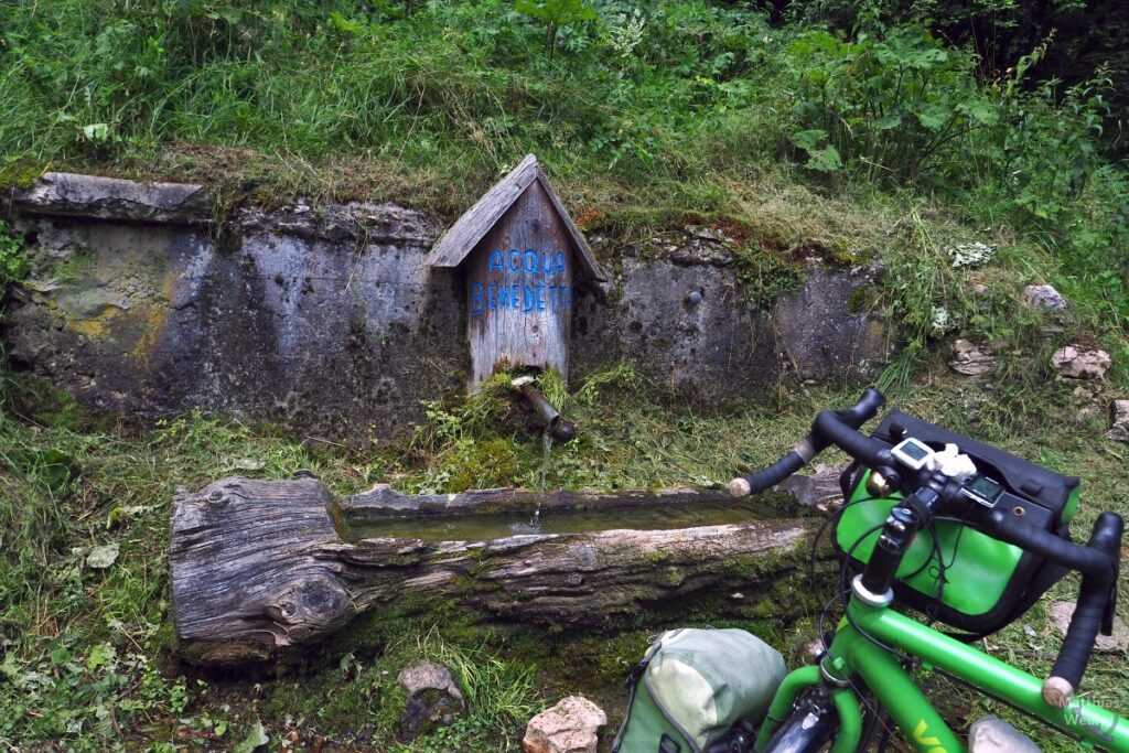
[{"label": "overgrown green grassy bank above the old wall", "polygon": [[[751,183],[795,182],[784,154],[816,189],[943,196],[978,227],[1008,226],[1066,262],[1041,277],[1077,279],[1080,308],[1110,331],[1123,263],[1087,260],[1120,233],[1123,168],[1103,152],[1112,69],[1039,80],[1057,51],[1043,35],[981,77],[982,58],[929,30],[1018,29],[1009,2],[828,0],[785,17],[832,30],[708,0],[21,6],[0,32],[0,175],[55,160],[151,177],[156,164],[163,177],[219,173],[235,186],[221,193],[356,196],[375,183],[455,212],[533,150],[610,226],[646,214],[646,238],[688,212],[747,219]],[[781,265],[752,272],[793,280]]]}]

